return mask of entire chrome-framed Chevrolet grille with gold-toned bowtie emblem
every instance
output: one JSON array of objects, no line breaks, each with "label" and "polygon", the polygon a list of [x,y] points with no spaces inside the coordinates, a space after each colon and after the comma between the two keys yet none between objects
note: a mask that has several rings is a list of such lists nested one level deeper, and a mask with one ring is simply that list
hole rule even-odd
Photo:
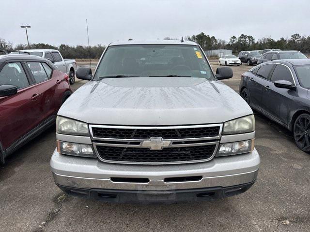
[{"label": "entire chrome-framed Chevrolet grille with gold-toned bowtie emblem", "polygon": [[94,150],[105,162],[194,163],[213,159],[223,124],[187,126],[89,125]]}]

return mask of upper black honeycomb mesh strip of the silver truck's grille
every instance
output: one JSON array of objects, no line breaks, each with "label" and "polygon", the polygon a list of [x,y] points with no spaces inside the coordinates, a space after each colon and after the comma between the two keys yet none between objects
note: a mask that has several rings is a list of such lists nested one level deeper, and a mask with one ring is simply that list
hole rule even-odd
[{"label": "upper black honeycomb mesh strip of the silver truck's grille", "polygon": [[93,127],[93,136],[96,138],[113,139],[149,139],[162,137],[163,139],[185,139],[216,137],[219,134],[219,126],[179,129],[120,129]]}]

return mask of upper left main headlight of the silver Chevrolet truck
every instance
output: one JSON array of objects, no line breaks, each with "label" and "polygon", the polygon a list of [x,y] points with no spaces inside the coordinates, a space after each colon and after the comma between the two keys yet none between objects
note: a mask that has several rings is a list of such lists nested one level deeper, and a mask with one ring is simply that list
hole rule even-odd
[{"label": "upper left main headlight of the silver Chevrolet truck", "polygon": [[70,118],[57,116],[56,132],[61,134],[88,136],[88,125],[85,122],[79,122]]}]

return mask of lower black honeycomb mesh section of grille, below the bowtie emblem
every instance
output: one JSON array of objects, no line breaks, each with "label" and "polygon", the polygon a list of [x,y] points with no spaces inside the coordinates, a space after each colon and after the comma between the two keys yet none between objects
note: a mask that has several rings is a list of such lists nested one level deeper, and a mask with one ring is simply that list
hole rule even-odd
[{"label": "lower black honeycomb mesh section of grille, below the bowtie emblem", "polygon": [[104,160],[124,162],[178,162],[205,160],[212,157],[216,145],[167,147],[163,150],[149,148],[97,146]]}]

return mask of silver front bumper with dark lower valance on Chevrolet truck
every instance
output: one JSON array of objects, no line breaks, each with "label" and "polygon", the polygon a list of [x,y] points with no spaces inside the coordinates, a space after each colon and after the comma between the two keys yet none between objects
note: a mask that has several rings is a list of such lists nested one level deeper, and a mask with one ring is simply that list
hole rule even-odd
[{"label": "silver front bumper with dark lower valance on Chevrolet truck", "polygon": [[246,191],[260,165],[253,152],[201,163],[124,165],[54,151],[55,183],[67,194],[107,202],[173,203],[215,200]]}]

